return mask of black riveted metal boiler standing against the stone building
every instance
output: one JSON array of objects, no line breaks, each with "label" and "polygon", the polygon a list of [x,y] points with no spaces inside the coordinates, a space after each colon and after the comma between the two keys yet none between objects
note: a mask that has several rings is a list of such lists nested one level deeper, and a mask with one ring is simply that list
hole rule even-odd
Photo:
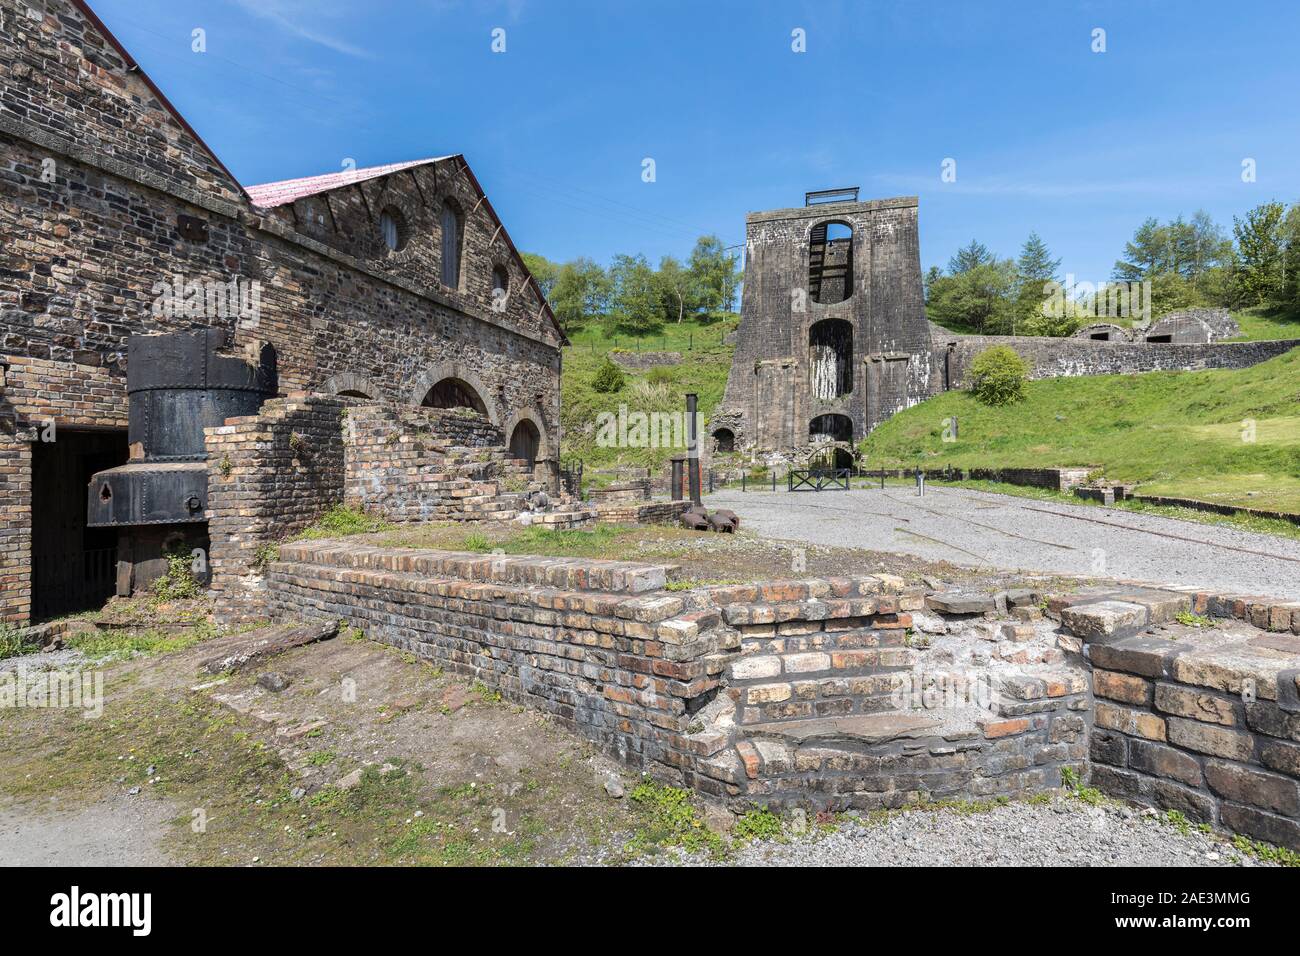
[{"label": "black riveted metal boiler standing against the stone building", "polygon": [[[276,351],[254,362],[221,355],[221,329],[131,336],[127,341],[130,460],[96,473],[87,524],[120,528],[117,593],[166,572],[166,555],[208,549],[208,466],[203,429],[255,415],[276,394]],[[205,567],[205,562],[203,563]]]}]

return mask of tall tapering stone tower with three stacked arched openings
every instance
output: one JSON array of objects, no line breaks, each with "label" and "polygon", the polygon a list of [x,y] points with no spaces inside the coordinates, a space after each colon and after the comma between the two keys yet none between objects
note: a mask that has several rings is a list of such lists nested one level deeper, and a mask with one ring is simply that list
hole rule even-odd
[{"label": "tall tapering stone tower with three stacked arched openings", "polygon": [[[809,193],[745,221],[745,289],[714,447],[833,457],[931,394],[916,199]],[[823,458],[829,459],[827,454]]]}]

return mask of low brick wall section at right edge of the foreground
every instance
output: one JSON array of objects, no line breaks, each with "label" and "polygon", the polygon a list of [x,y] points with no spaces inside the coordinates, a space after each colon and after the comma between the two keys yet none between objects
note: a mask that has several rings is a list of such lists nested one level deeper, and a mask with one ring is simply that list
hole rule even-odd
[{"label": "low brick wall section at right edge of the foreground", "polygon": [[[1300,604],[1191,589],[1174,604],[1095,598],[1061,607],[1093,667],[1092,783],[1300,849]],[[1178,610],[1252,627],[1145,630]]]}]

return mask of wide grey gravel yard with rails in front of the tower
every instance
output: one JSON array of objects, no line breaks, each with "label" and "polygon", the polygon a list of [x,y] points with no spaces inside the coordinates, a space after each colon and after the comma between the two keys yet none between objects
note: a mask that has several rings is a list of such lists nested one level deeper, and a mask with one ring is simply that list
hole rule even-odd
[{"label": "wide grey gravel yard with rails in front of the tower", "polygon": [[927,488],[924,498],[904,488],[728,490],[706,503],[732,509],[742,527],[772,538],[1300,598],[1300,541],[1117,509],[953,488]]}]

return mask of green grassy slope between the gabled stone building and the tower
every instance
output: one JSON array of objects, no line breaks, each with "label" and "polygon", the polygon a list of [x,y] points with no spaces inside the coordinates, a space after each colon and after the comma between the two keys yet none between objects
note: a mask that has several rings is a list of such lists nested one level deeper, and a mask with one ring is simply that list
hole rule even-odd
[{"label": "green grassy slope between the gabled stone building and the tower", "polygon": [[[699,395],[705,418],[712,414],[727,388],[727,373],[734,349],[723,343],[723,336],[736,329],[738,316],[702,323],[684,320],[664,325],[651,336],[606,336],[599,328],[569,333],[572,345],[564,350],[560,380],[560,419],[564,425],[562,453],[566,459],[581,458],[588,468],[614,464],[662,467],[672,454],[685,449],[619,449],[595,444],[595,423],[601,412],[618,415],[619,406],[629,412],[685,412],[688,392]],[[677,351],[681,363],[653,372],[624,372],[623,388],[602,394],[592,388],[592,376],[611,351]]]}]

